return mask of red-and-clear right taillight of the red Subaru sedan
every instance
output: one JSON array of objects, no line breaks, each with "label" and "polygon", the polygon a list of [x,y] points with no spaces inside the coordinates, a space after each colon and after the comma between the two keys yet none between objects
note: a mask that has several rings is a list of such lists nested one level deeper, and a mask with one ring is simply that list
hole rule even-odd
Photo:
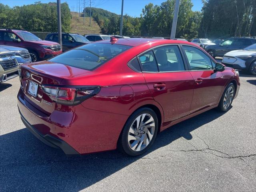
[{"label": "red-and-clear right taillight of the red Subaru sedan", "polygon": [[42,88],[50,98],[59,104],[77,105],[84,100],[98,94],[100,86],[51,86],[42,85]]}]

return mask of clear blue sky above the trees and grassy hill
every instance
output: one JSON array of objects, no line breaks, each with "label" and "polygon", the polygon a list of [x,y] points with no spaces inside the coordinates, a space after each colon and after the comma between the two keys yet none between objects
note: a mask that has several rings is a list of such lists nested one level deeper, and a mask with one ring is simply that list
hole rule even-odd
[{"label": "clear blue sky above the trees and grassy hill", "polygon": [[[0,3],[13,6],[22,6],[27,4],[33,4],[39,0],[0,0]],[[56,0],[40,0],[42,3],[56,2]],[[166,0],[124,0],[124,14],[129,16],[138,17],[142,13],[142,8],[146,4],[153,3],[154,5],[160,5]],[[61,3],[67,2],[71,11],[78,11],[78,2],[79,0],[61,0]],[[90,0],[85,0],[86,6],[89,6]],[[200,11],[203,4],[202,0],[192,0],[194,6],[192,7],[193,11]],[[84,6],[84,0],[80,0],[80,10]],[[102,8],[110,12],[121,14],[121,0],[91,0],[91,6],[96,8]]]}]

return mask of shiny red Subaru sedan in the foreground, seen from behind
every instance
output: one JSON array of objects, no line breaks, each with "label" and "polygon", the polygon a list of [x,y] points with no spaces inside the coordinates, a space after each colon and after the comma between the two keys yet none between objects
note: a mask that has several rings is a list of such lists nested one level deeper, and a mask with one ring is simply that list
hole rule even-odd
[{"label": "shiny red Subaru sedan in the foreground, seen from behind", "polygon": [[147,38],[111,38],[24,64],[20,82],[22,121],[68,155],[140,155],[173,124],[228,111],[240,88],[234,69],[195,44]]}]

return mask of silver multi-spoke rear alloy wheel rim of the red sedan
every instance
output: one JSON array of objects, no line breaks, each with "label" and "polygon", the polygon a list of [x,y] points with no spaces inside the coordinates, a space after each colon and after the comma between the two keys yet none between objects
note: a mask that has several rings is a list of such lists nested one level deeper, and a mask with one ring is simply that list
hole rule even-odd
[{"label": "silver multi-spoke rear alloy wheel rim of the red sedan", "polygon": [[150,114],[139,115],[130,126],[128,144],[134,151],[141,151],[152,140],[155,132],[154,118]]}]

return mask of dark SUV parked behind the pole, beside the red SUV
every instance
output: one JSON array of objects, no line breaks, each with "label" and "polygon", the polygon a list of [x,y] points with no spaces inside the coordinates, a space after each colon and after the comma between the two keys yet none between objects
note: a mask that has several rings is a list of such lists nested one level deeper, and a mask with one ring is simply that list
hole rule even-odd
[{"label": "dark SUV parked behind the pole, beside the red SUV", "polygon": [[[58,42],[58,33],[47,34],[45,40]],[[90,41],[84,36],[76,33],[62,33],[62,51],[72,49],[74,47],[88,44]]]}]

